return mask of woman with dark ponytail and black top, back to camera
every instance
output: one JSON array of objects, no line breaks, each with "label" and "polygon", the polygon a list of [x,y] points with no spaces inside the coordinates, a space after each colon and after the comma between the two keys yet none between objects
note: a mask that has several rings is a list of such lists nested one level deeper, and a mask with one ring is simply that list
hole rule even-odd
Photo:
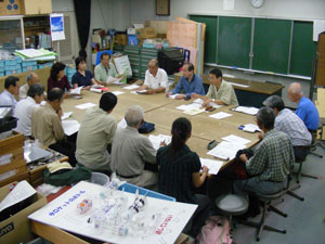
[{"label": "woman with dark ponytail and black top, back to camera", "polygon": [[198,205],[187,232],[195,237],[208,218],[210,200],[206,195],[195,194],[193,189],[204,184],[209,169],[202,167],[198,155],[186,145],[191,131],[192,125],[187,118],[176,119],[171,128],[171,143],[158,150],[157,165],[160,193],[173,196],[178,202]]}]

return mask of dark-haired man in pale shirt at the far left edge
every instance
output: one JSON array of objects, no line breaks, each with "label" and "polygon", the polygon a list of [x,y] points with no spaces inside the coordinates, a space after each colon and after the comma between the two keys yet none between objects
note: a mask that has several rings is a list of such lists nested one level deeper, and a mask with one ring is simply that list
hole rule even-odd
[{"label": "dark-haired man in pale shirt at the far left edge", "polygon": [[0,94],[0,106],[12,106],[12,114],[14,114],[17,103],[14,95],[18,95],[20,92],[17,81],[20,81],[20,78],[15,76],[6,77],[4,80],[4,90]]}]

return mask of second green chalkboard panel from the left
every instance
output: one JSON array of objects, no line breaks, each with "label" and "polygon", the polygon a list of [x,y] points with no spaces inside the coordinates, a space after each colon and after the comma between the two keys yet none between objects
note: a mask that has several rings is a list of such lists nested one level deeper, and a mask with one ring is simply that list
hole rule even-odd
[{"label": "second green chalkboard panel from the left", "polygon": [[219,17],[218,64],[249,68],[250,17]]}]

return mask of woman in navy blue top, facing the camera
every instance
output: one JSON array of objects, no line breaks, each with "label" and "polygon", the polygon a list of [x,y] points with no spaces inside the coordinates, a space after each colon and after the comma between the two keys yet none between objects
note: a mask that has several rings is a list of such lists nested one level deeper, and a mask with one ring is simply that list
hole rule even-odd
[{"label": "woman in navy blue top, facing the camera", "polygon": [[90,89],[91,85],[95,85],[96,81],[93,78],[92,74],[86,69],[87,62],[83,56],[78,56],[76,60],[76,69],[77,73],[73,76],[73,86],[84,87],[84,89]]}]

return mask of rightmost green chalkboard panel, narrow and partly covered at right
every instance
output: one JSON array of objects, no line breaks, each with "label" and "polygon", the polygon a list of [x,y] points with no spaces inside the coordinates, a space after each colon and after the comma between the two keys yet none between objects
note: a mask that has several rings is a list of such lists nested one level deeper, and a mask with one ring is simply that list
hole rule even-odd
[{"label": "rightmost green chalkboard panel, narrow and partly covered at right", "polygon": [[295,21],[290,74],[311,76],[315,53],[316,42],[313,41],[313,23]]}]

